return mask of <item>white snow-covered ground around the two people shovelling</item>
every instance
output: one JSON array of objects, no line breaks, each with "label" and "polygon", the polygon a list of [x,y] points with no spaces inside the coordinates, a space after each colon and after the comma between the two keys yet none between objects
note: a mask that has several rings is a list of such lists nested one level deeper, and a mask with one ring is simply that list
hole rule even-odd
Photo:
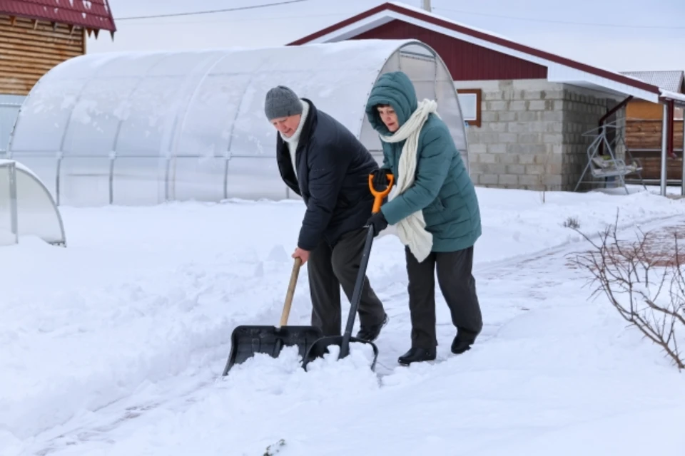
[{"label": "white snow-covered ground around the two people shovelling", "polygon": [[[368,271],[390,314],[375,372],[355,349],[305,373],[286,349],[220,375],[236,325],[278,321],[301,202],[62,207],[68,248],[0,247],[0,455],[682,455],[682,374],[588,301],[563,224],[674,224],[685,200],[477,191],[477,344],[450,354],[438,293],[438,361],[397,366],[407,279],[387,235]],[[289,323],[309,315],[303,269]]]}]

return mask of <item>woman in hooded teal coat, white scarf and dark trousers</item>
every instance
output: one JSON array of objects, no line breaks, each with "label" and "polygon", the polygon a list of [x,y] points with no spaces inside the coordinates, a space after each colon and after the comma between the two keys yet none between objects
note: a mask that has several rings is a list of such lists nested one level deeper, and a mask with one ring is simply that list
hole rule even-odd
[{"label": "woman in hooded teal coat, white scarf and dark trousers", "polygon": [[475,188],[447,125],[433,100],[417,101],[405,73],[378,78],[366,105],[379,133],[383,164],[375,172],[377,187],[387,173],[397,188],[373,214],[375,234],[397,227],[405,244],[409,276],[412,346],[400,356],[408,365],[435,359],[435,271],[457,333],[452,353],[471,348],[482,329],[482,315],[472,276],[473,246],[480,237],[480,210]]}]

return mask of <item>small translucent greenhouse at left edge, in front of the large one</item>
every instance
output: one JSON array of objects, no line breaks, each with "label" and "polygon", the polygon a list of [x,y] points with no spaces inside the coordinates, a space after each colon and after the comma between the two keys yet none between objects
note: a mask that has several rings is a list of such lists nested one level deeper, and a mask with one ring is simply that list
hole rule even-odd
[{"label": "small translucent greenhouse at left edge, in front of the large one", "polygon": [[14,160],[0,160],[0,246],[36,236],[66,247],[64,224],[40,178]]}]

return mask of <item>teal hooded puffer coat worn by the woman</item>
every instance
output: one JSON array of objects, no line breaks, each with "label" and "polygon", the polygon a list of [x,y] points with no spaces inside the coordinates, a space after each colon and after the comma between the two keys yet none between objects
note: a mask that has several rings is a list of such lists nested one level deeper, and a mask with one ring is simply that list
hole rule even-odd
[{"label": "teal hooded puffer coat worn by the woman", "polygon": [[[380,119],[377,105],[390,105],[403,125],[417,108],[414,86],[405,73],[385,73],[376,81],[366,105],[366,115],[380,135],[390,136]],[[401,142],[382,142],[383,168],[397,176]],[[422,209],[426,229],[433,235],[432,252],[454,252],[475,244],[482,234],[480,209],[471,178],[447,125],[430,114],[419,135],[417,167],[412,187],[381,211],[389,224],[396,224]]]}]

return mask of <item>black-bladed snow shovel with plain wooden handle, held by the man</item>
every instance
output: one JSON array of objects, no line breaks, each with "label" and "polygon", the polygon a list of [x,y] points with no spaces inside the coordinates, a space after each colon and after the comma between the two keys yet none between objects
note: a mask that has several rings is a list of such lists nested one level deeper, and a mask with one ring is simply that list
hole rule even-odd
[{"label": "black-bladed snow shovel with plain wooden handle, held by the man", "polygon": [[283,346],[298,346],[300,356],[304,357],[310,345],[323,333],[313,326],[285,326],[290,315],[290,305],[295,296],[302,260],[295,258],[293,273],[290,274],[288,292],[285,294],[283,313],[278,326],[236,326],[230,335],[230,354],[223,375],[227,375],[234,364],[243,363],[255,353],[267,353],[277,358]]}]

